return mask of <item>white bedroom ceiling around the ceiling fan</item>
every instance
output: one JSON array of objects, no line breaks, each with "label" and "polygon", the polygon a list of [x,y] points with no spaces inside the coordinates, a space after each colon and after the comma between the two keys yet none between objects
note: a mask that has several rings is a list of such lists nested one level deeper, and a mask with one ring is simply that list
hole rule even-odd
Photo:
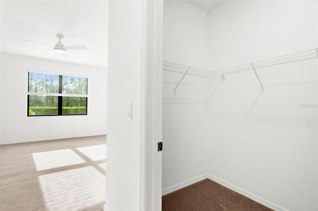
[{"label": "white bedroom ceiling around the ceiling fan", "polygon": [[[107,66],[107,1],[3,1],[1,0],[1,52],[65,62]],[[69,51],[62,58],[50,47],[62,33],[65,46],[85,45],[87,50]]]}]

